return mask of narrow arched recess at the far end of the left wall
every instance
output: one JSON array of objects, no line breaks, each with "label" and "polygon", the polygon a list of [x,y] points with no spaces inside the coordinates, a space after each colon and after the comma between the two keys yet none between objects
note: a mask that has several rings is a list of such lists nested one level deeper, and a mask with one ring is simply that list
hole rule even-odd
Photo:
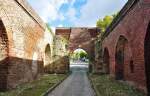
[{"label": "narrow arched recess at the far end of the left wall", "polygon": [[51,63],[51,48],[50,45],[47,44],[45,48],[45,56],[44,56],[45,72],[50,72],[50,70],[52,69],[50,63]]}]

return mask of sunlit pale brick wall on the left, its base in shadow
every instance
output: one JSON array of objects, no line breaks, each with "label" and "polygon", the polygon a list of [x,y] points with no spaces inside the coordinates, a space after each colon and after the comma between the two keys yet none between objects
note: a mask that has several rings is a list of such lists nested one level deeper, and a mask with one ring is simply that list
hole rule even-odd
[{"label": "sunlit pale brick wall on the left, its base in shadow", "polygon": [[0,90],[43,72],[44,32],[44,23],[25,0],[0,0]]}]

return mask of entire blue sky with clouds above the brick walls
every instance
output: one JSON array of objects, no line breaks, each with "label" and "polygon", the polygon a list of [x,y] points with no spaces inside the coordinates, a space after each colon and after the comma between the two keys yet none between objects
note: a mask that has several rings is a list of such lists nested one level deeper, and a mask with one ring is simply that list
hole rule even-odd
[{"label": "entire blue sky with clouds above the brick walls", "polygon": [[127,0],[27,0],[51,27],[93,27],[118,12]]}]

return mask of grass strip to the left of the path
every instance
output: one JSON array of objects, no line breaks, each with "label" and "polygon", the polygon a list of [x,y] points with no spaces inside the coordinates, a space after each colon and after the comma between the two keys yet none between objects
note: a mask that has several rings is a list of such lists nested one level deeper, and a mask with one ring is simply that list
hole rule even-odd
[{"label": "grass strip to the left of the path", "polygon": [[0,96],[41,96],[49,88],[63,80],[67,75],[46,74],[31,83],[19,85],[16,89],[0,92]]}]

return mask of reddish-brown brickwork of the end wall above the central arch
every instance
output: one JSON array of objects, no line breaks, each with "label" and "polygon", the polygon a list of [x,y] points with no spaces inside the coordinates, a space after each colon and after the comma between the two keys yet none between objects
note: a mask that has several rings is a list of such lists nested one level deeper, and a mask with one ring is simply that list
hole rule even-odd
[{"label": "reddish-brown brickwork of the end wall above the central arch", "polygon": [[[56,37],[63,37],[68,40],[64,44],[66,50],[73,52],[77,48],[84,49],[90,57],[94,59],[94,40],[98,34],[97,28],[75,27],[75,28],[57,28]],[[63,41],[63,40],[62,40]],[[63,45],[62,45],[63,46]],[[57,46],[59,47],[59,46]],[[62,48],[59,48],[62,49]]]}]

